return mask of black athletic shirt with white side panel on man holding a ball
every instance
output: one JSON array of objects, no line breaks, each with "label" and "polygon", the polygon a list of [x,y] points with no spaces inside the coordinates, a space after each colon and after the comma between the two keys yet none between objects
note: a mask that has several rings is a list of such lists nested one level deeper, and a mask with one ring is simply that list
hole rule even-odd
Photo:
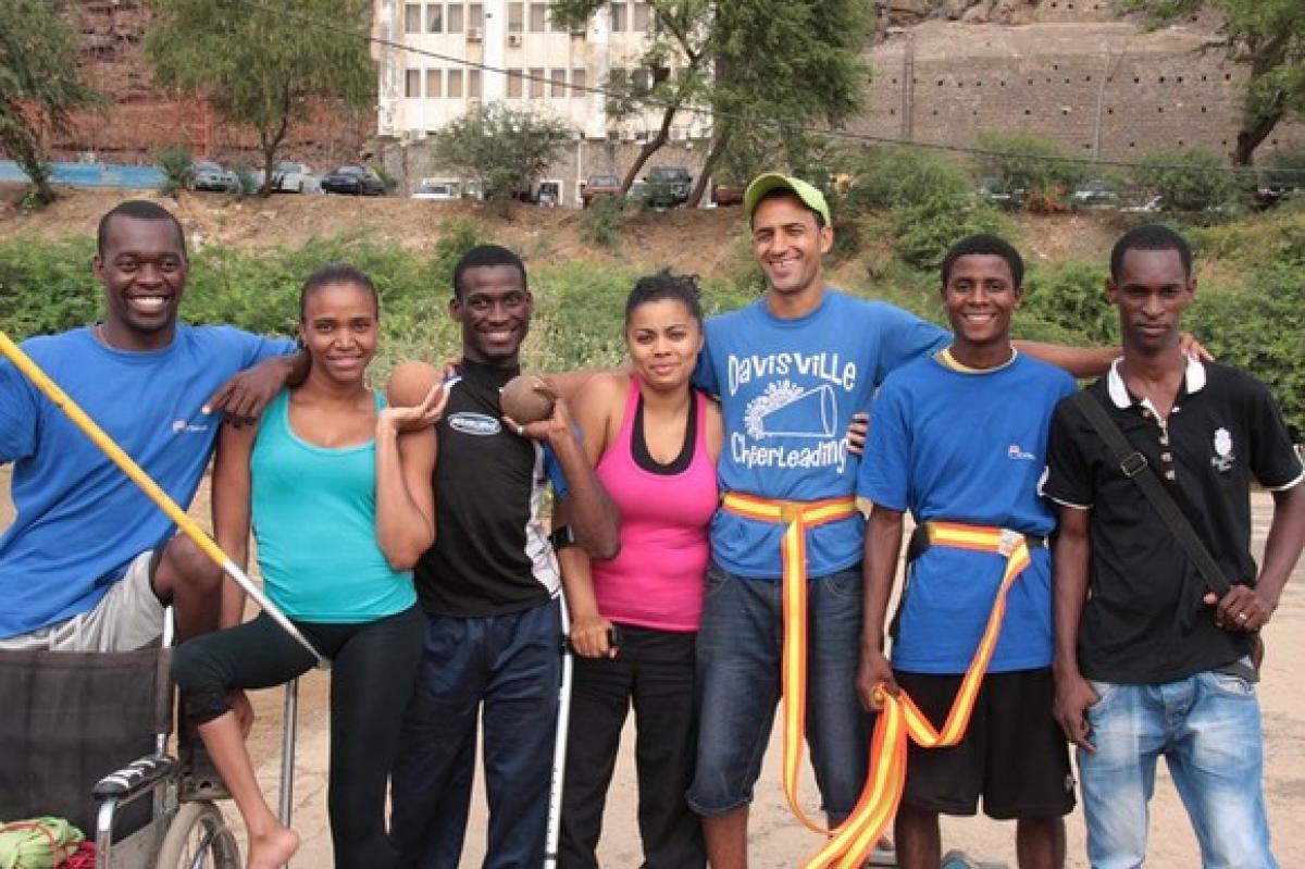
[{"label": "black athletic shirt with white side panel on man holding a ball", "polygon": [[418,596],[433,616],[530,609],[559,588],[557,561],[539,521],[553,462],[543,446],[502,424],[499,390],[517,369],[463,360],[458,373],[462,381],[436,425],[436,538],[414,572]]}]

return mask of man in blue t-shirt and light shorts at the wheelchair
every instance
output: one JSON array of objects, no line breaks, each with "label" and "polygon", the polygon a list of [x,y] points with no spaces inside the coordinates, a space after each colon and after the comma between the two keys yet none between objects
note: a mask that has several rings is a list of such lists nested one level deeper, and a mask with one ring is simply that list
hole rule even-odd
[{"label": "man in blue t-shirt and light shorts at the wheelchair", "polygon": [[[93,270],[104,287],[103,321],[22,347],[172,500],[188,505],[213,451],[218,411],[256,416],[290,376],[294,344],[177,322],[185,239],[154,202],[128,201],[104,214]],[[17,515],[0,536],[0,648],[142,647],[158,638],[163,607],[174,603],[183,639],[239,620],[222,612],[221,572],[174,536],[171,519],[63,411],[0,361],[0,463],[9,462]]]}]

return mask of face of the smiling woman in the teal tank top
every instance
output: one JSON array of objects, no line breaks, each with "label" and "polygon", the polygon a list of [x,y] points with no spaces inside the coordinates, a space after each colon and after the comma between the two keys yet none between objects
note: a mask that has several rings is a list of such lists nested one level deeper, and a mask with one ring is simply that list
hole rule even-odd
[{"label": "face of the smiling woman in the teal tank top", "polygon": [[324,283],[304,299],[299,337],[312,356],[312,376],[363,380],[376,355],[376,297],[356,283]]}]

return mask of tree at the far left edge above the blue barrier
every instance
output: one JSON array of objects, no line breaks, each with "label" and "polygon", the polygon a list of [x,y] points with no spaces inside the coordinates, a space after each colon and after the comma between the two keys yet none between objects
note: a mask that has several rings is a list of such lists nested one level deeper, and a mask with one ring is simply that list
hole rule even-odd
[{"label": "tree at the far left edge above the blue barrier", "polygon": [[77,80],[77,43],[59,0],[9,0],[0,26],[0,150],[22,166],[37,202],[52,202],[40,130],[67,133],[76,108],[99,103]]}]

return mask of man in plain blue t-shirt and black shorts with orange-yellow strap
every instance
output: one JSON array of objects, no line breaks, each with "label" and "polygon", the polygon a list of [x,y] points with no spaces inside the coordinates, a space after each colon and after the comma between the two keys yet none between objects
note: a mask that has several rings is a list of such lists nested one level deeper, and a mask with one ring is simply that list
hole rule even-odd
[{"label": "man in plain blue t-shirt and black shorts with orange-yellow strap", "polygon": [[[910,744],[897,813],[899,866],[937,866],[938,814],[1017,819],[1022,869],[1065,864],[1062,816],[1074,808],[1069,752],[1052,715],[1051,557],[1054,528],[1037,493],[1065,372],[1019,354],[1010,321],[1023,296],[1023,261],[1006,241],[975,235],[942,261],[950,347],[883,381],[874,399],[857,495],[873,502],[865,536],[865,635],[857,689],[878,710],[880,686],[906,690],[937,729],[984,637],[1007,557],[950,545],[941,528],[1024,536],[1030,564],[1006,594],[1006,613],[974,711],[954,748]],[[891,664],[885,616],[902,547],[903,514],[917,525],[907,552]],[[1010,536],[1010,535],[1007,535]],[[981,665],[981,662],[980,664]]]}]

